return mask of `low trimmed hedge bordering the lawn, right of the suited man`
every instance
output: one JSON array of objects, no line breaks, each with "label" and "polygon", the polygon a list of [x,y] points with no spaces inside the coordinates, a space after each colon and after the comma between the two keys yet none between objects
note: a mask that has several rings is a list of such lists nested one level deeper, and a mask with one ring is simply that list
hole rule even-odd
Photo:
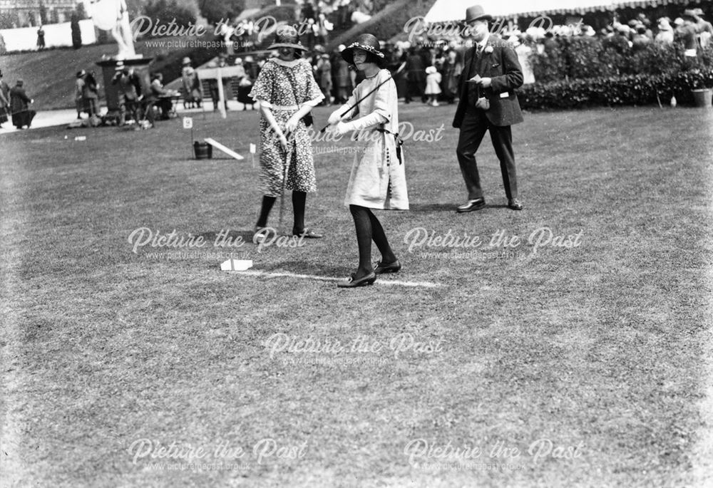
[{"label": "low trimmed hedge bordering the lawn, right of the suited man", "polygon": [[590,106],[693,103],[692,88],[713,86],[713,70],[694,69],[674,74],[587,78],[523,85],[518,100],[528,109],[570,109]]}]

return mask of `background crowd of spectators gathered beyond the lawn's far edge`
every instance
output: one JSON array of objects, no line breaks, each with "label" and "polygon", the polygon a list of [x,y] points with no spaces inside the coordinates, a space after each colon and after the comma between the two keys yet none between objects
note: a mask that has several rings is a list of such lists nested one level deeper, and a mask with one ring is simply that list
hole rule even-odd
[{"label": "background crowd of spectators gathered beyond the lawn's far edge", "polygon": [[[344,103],[352,93],[354,87],[361,81],[359,73],[350,69],[341,56],[345,48],[340,45],[334,51],[327,53],[324,44],[328,41],[329,31],[335,26],[344,28],[353,19],[350,16],[355,11],[364,15],[381,8],[376,1],[369,0],[334,0],[319,1],[309,0],[298,2],[298,19],[306,26],[317,26],[313,36],[302,36],[304,43],[310,46],[308,56],[314,69],[314,78],[324,93],[324,105]],[[243,24],[244,31],[250,33],[250,24]],[[600,31],[595,31],[592,26],[561,25],[551,26],[545,30],[539,27],[530,27],[520,31],[513,24],[501,28],[498,36],[510,42],[518,54],[523,67],[525,84],[535,83],[535,76],[530,67],[531,57],[535,54],[543,55],[553,51],[563,38],[600,38],[608,39],[630,52],[639,51],[652,45],[672,46],[679,44],[684,56],[695,57],[699,50],[713,46],[713,25],[704,19],[701,9],[686,9],[675,19],[662,17],[649,19],[644,14],[639,14],[635,19],[620,22],[617,19]],[[399,84],[401,95],[405,103],[420,100],[429,105],[441,103],[454,103],[457,98],[457,87],[461,76],[463,48],[467,45],[466,38],[430,39],[417,38],[414,43],[397,41],[396,43],[381,43],[381,51],[386,54],[386,67],[394,73],[394,79]],[[253,100],[247,96],[252,88],[252,83],[257,78],[262,64],[269,55],[246,55],[234,58],[237,76],[222,80],[227,109],[227,100],[242,103],[244,108],[254,108]],[[226,66],[228,53],[222,54],[217,60],[217,66]],[[200,108],[203,94],[200,79],[195,69],[190,66],[190,58],[184,58],[181,73],[180,94],[183,98],[184,108]],[[233,70],[235,71],[235,70]],[[121,120],[141,120],[150,117],[153,123],[155,116],[168,118],[171,111],[170,96],[163,88],[160,74],[152,74],[148,87],[142,86],[139,77],[130,68],[118,71],[113,83],[118,85]],[[217,80],[208,82],[210,98],[214,110],[217,110],[218,90]],[[1,85],[0,85],[1,88]],[[7,90],[6,90],[7,91]],[[88,117],[98,116],[99,85],[95,73],[79,71],[76,74],[76,110],[77,117],[82,113]],[[7,98],[3,100],[3,96]],[[9,107],[9,93],[0,90],[0,120],[4,107]],[[7,109],[6,109],[7,110]],[[148,112],[147,112],[148,110]]]}]

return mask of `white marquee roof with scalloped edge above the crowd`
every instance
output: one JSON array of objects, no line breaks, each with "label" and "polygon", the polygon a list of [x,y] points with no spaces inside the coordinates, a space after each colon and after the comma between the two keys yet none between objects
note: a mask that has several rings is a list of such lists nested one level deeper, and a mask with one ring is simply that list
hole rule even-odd
[{"label": "white marquee roof with scalloped edge above the crowd", "polygon": [[612,11],[626,7],[666,4],[693,4],[700,0],[436,0],[426,17],[427,22],[461,21],[469,6],[481,5],[493,17],[538,16],[540,14],[585,14]]}]

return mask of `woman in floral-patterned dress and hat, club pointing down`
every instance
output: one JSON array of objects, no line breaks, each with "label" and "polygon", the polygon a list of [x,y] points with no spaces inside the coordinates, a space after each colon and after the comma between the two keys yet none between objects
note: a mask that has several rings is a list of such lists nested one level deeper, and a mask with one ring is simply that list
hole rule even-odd
[{"label": "woman in floral-patterned dress and hat, club pointing down", "polygon": [[[304,227],[304,206],[308,192],[317,191],[314,177],[312,145],[305,125],[305,115],[317,106],[324,95],[314,81],[312,66],[298,51],[306,48],[299,43],[297,31],[291,26],[277,29],[275,43],[278,58],[271,58],[262,67],[250,97],[260,102],[260,190],[262,209],[255,226],[255,239],[264,239],[267,217],[272,205],[284,190],[292,190],[294,225],[292,234],[319,238]],[[288,164],[289,161],[289,164]]]}]

